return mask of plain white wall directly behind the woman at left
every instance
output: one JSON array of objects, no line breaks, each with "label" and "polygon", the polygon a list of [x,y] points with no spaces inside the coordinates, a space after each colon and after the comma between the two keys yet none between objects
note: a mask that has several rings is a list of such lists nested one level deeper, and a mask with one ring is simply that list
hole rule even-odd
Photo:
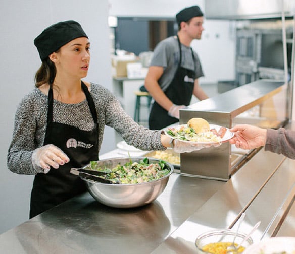
[{"label": "plain white wall directly behind the woman at left", "polygon": [[[13,132],[14,114],[21,98],[34,87],[40,59],[33,39],[47,26],[62,20],[78,21],[91,42],[91,63],[87,81],[111,89],[108,1],[12,0],[2,1],[1,34],[1,177],[0,233],[26,221],[33,176],[11,173],[6,156]],[[114,148],[113,130],[107,129],[102,152]]]}]

